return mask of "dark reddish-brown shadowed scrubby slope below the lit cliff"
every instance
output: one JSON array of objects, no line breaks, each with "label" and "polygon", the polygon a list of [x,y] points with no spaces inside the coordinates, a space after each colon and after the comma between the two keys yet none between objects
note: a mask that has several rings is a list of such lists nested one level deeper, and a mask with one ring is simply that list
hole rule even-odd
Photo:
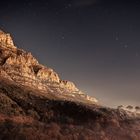
[{"label": "dark reddish-brown shadowed scrubby slope below the lit cliff", "polygon": [[123,110],[50,99],[0,80],[1,140],[139,140],[140,119]]}]

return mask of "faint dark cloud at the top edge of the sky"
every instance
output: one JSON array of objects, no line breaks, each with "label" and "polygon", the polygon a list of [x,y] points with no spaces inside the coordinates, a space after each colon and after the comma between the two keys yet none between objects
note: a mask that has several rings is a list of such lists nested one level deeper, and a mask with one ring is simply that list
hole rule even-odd
[{"label": "faint dark cloud at the top edge of the sky", "polygon": [[85,7],[97,4],[100,0],[73,0],[76,7]]}]

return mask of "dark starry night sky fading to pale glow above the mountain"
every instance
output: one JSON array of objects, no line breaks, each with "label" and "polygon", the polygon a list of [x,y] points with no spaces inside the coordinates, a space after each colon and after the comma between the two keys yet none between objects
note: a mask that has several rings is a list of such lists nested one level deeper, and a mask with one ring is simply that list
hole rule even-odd
[{"label": "dark starry night sky fading to pale glow above the mountain", "polygon": [[0,28],[101,104],[140,105],[139,0],[5,0]]}]

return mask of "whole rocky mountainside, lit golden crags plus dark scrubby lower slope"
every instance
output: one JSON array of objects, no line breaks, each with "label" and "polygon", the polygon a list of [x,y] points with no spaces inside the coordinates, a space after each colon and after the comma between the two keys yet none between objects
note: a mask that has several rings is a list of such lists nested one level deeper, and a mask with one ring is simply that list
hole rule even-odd
[{"label": "whole rocky mountainside, lit golden crags plus dark scrubby lower slope", "polygon": [[140,117],[99,105],[0,31],[0,140],[140,140]]}]

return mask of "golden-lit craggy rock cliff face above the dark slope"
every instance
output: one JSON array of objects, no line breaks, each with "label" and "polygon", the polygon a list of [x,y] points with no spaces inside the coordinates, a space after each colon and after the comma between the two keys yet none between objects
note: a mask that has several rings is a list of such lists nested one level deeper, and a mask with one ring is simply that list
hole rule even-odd
[{"label": "golden-lit craggy rock cliff face above the dark slope", "polygon": [[79,96],[82,100],[96,103],[95,98],[82,93],[74,83],[61,80],[51,68],[45,67],[31,53],[18,49],[10,36],[0,31],[0,73],[16,83],[41,91],[57,92],[74,100]]}]

